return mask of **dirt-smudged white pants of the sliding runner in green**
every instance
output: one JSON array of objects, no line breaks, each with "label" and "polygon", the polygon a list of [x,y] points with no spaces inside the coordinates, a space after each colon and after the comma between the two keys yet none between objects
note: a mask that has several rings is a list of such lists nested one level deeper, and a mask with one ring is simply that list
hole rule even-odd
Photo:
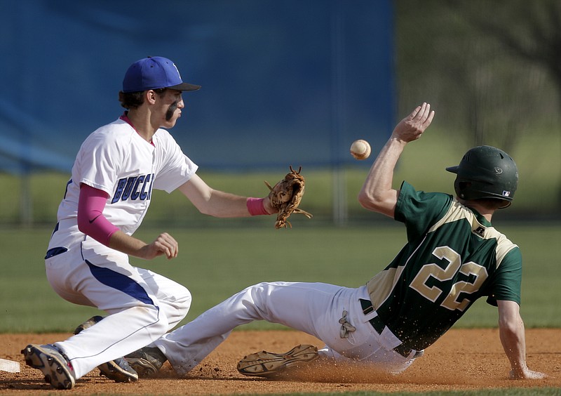
[{"label": "dirt-smudged white pants of the sliding runner in green", "polygon": [[[413,359],[393,348],[400,341],[383,331],[378,334],[364,315],[359,298],[370,299],[366,286],[349,289],[323,283],[264,282],[236,293],[192,322],[154,342],[168,357],[177,374],[184,375],[229,336],[232,329],[254,320],[279,323],[316,336],[325,348],[322,355],[335,359],[351,358],[376,364],[379,369],[398,373]],[[342,338],[339,319],[356,328]],[[386,328],[386,330],[388,330]]]}]

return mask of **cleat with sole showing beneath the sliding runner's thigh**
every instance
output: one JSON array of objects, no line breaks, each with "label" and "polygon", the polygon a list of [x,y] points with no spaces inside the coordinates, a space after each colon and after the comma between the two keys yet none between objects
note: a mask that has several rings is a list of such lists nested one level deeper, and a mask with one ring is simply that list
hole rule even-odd
[{"label": "cleat with sole showing beneath the sliding runner's thigh", "polygon": [[262,350],[244,357],[238,362],[238,371],[244,376],[272,376],[299,363],[317,359],[318,348],[313,345],[298,345],[286,353],[271,353]]}]

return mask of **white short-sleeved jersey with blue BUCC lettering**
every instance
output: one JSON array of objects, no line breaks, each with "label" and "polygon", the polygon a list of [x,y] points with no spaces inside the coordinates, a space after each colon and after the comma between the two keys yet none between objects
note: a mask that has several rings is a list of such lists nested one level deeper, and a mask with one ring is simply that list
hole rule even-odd
[{"label": "white short-sleeved jersey with blue BUCC lettering", "polygon": [[103,215],[132,235],[147,213],[152,188],[172,192],[198,169],[168,131],[158,129],[152,143],[123,119],[94,131],[76,155],[58,220],[76,218],[85,183],[109,194]]}]

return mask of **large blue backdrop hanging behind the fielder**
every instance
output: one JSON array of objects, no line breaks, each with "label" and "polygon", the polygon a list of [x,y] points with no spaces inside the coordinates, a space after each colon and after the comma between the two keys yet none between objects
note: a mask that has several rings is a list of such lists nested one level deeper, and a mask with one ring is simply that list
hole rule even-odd
[{"label": "large blue backdrop hanging behind the fielder", "polygon": [[390,0],[2,1],[0,171],[69,172],[147,55],[203,86],[171,130],[201,167],[341,165],[356,138],[376,154],[396,121],[392,18]]}]

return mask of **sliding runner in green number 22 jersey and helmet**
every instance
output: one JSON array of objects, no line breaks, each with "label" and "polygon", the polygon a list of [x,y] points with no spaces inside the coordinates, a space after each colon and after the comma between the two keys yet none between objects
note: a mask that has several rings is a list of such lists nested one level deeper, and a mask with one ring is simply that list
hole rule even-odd
[{"label": "sliding runner in green number 22 jersey and helmet", "polygon": [[325,347],[252,353],[238,363],[242,374],[270,376],[320,356],[397,374],[485,297],[499,310],[509,377],[546,376],[526,364],[520,249],[491,223],[493,213],[513,201],[518,185],[513,159],[495,147],[469,150],[458,166],[447,168],[457,175],[455,197],[417,191],[406,182],[399,190],[392,187],[405,145],[421,137],[433,116],[424,103],[400,121],[358,194],[365,209],[394,218],[407,230],[407,243],[383,271],[358,288],[304,282],[249,286],[135,352],[131,366],[156,371],[168,360],[178,374],[186,374],[236,326],[266,320],[311,334]]}]

